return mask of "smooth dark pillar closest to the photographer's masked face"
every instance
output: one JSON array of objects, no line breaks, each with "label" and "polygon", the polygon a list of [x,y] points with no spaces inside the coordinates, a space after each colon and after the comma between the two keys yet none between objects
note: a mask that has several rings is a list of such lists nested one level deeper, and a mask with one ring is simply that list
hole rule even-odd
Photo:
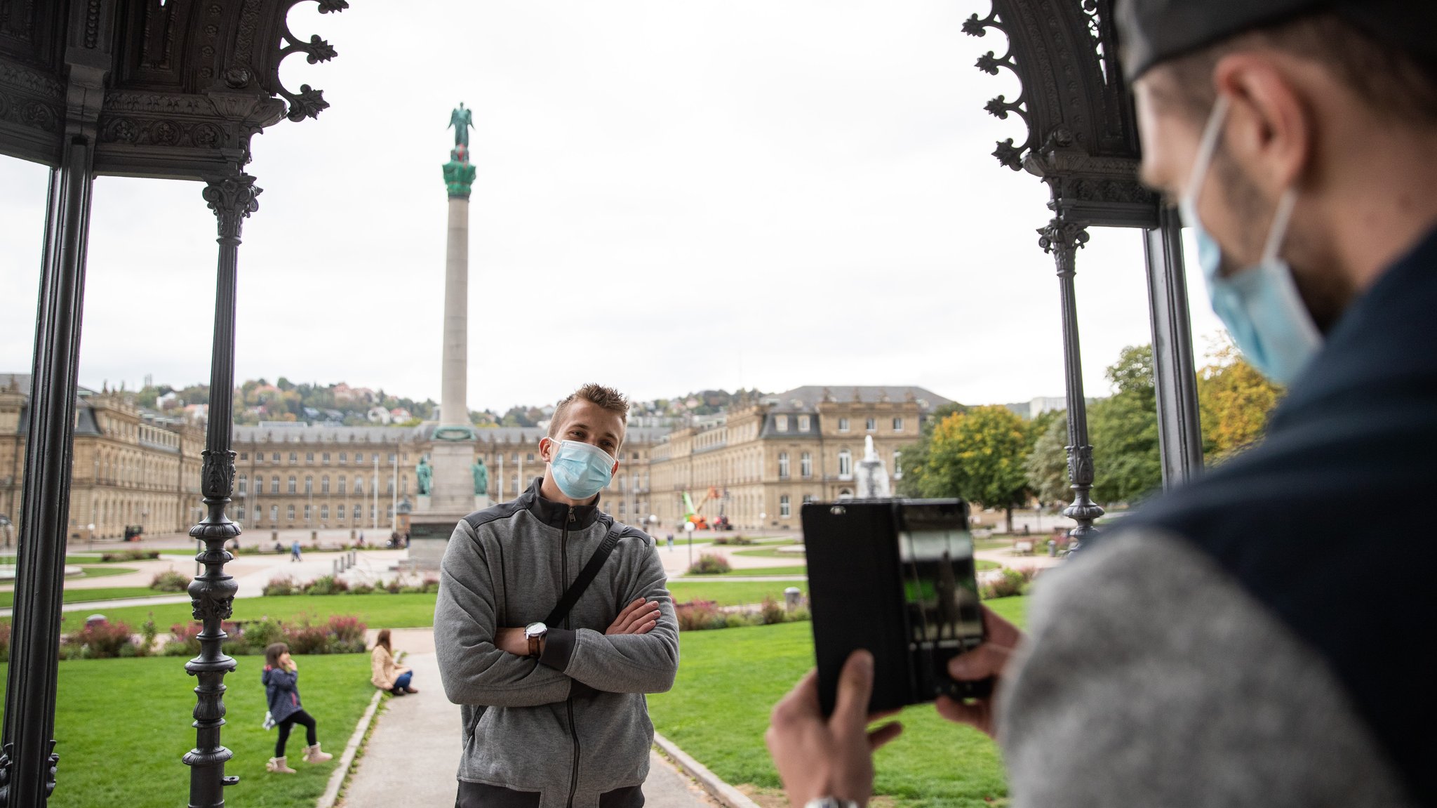
[{"label": "smooth dark pillar closest to the photographer's masked face", "polygon": [[1203,428],[1197,416],[1193,323],[1187,272],[1183,269],[1183,221],[1177,210],[1158,211],[1158,227],[1145,230],[1148,306],[1152,315],[1152,377],[1158,394],[1158,453],[1163,487],[1203,470]]}]

